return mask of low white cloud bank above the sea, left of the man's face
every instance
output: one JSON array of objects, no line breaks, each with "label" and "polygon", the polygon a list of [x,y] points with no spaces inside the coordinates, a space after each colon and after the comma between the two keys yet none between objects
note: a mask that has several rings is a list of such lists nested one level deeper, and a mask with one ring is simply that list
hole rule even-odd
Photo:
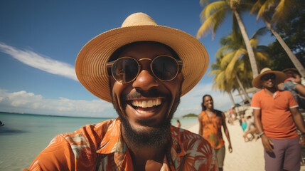
[{"label": "low white cloud bank above the sea, left of the man's face", "polygon": [[111,103],[104,100],[45,99],[21,90],[9,93],[0,89],[0,111],[80,117],[117,117]]}]

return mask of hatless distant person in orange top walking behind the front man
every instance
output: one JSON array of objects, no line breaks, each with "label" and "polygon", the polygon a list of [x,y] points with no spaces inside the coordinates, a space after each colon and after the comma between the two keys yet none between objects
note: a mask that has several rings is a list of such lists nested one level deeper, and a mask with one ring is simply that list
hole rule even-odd
[{"label": "hatless distant person in orange top walking behind the front man", "polygon": [[203,103],[201,105],[203,111],[198,115],[199,135],[203,135],[214,147],[218,167],[221,171],[223,170],[223,162],[225,160],[225,142],[221,133],[222,126],[229,142],[229,152],[232,152],[229,130],[225,124],[225,114],[214,109],[213,98],[210,95],[203,96]]}]

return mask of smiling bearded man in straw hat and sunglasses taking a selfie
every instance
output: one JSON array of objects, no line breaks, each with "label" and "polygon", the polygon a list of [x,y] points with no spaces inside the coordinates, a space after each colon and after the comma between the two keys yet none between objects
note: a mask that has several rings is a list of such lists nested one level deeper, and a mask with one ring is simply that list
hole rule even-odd
[{"label": "smiling bearded man in straw hat and sunglasses taking a selfie", "polygon": [[80,83],[119,118],[56,136],[29,170],[217,170],[207,140],[171,125],[207,68],[196,38],[132,14],[89,41],[75,63]]}]

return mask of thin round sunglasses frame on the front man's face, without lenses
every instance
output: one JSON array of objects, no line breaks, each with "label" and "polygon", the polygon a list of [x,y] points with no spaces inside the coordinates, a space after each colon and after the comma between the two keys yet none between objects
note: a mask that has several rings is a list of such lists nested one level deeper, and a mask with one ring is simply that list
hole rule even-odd
[{"label": "thin round sunglasses frame on the front man's face, without lenses", "polygon": [[[166,57],[169,57],[169,58],[173,58],[172,56],[167,56],[167,55],[156,56],[156,58],[161,58],[162,56],[166,56]],[[122,58],[132,58],[132,57],[124,56],[124,57],[122,57]],[[116,63],[117,61],[119,61],[119,60],[122,59],[122,58],[118,58],[118,59],[115,60],[115,61],[107,62],[108,74],[111,73],[112,77],[113,77],[116,81],[117,81],[117,78],[114,77],[112,68],[113,68],[114,63]],[[156,58],[154,58],[154,59],[150,59],[150,58],[140,58],[139,60],[137,60],[137,59],[135,59],[135,58],[132,58],[132,59],[133,59],[134,61],[136,61],[137,64],[138,64],[137,76],[135,76],[135,77],[132,79],[132,81],[134,81],[134,80],[136,80],[136,79],[138,78],[139,73],[140,73],[140,71],[141,71],[141,64],[139,63],[139,61],[144,61],[144,60],[151,61],[151,62],[149,63],[149,66],[150,66],[150,68],[151,68],[151,73],[154,74],[154,77],[155,77],[155,78],[158,78],[159,81],[165,81],[165,80],[162,80],[162,79],[160,79],[159,77],[157,77],[156,74],[155,74],[154,71],[153,71],[152,65],[153,65],[154,61],[156,60]],[[173,58],[173,60],[176,61],[177,66],[178,66],[178,69],[177,69],[177,72],[176,72],[175,76],[173,76],[173,78],[171,78],[171,80],[168,80],[168,81],[172,81],[173,79],[176,78],[176,76],[178,76],[178,73],[179,73],[179,71],[181,71],[181,68],[182,68],[182,65],[183,65],[183,61],[180,61],[180,60],[178,60],[178,59],[176,59],[176,58]],[[109,71],[109,68],[111,68],[111,71]],[[109,74],[109,75],[110,75],[110,74]],[[131,83],[132,81],[128,81],[128,82],[126,82],[126,83]],[[123,83],[122,81],[117,81],[117,82]],[[167,81],[166,81],[166,82],[167,82]]]}]

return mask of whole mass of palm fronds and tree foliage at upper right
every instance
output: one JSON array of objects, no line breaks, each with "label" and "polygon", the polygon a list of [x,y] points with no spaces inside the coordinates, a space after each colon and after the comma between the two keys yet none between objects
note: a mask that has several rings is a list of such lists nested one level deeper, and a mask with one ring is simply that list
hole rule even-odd
[{"label": "whole mass of palm fronds and tree foliage at upper right", "polygon": [[[213,89],[228,93],[252,87],[252,78],[264,67],[281,71],[297,68],[305,76],[305,3],[302,0],[200,0],[204,6],[200,13],[203,24],[197,38],[212,31],[212,38],[226,17],[232,15],[232,32],[220,40],[221,48],[216,53],[208,75],[214,75]],[[240,18],[240,13],[249,11],[262,19],[277,41],[259,46],[259,37],[267,32],[261,28],[250,39]],[[289,46],[287,46],[287,44]],[[296,54],[296,55],[295,55]],[[296,58],[297,57],[297,58]],[[300,62],[301,61],[301,62]],[[250,70],[251,68],[251,70]],[[302,73],[304,72],[304,73]],[[250,100],[249,100],[250,101]]]}]

